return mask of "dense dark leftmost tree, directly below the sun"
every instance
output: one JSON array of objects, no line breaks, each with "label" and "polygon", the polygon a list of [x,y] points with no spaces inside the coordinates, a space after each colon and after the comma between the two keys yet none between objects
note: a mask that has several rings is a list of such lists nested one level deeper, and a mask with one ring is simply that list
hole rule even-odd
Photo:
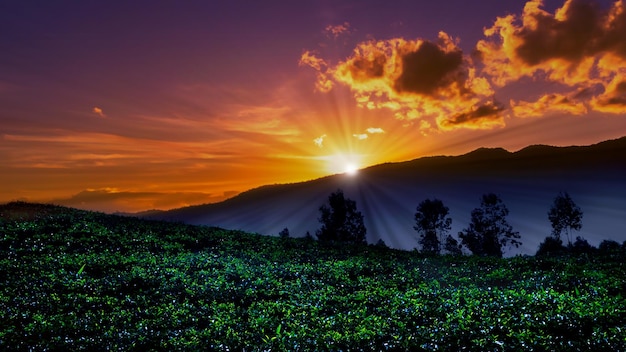
[{"label": "dense dark leftmost tree, directly below the sun", "polygon": [[356,202],[345,198],[341,189],[330,194],[328,205],[320,207],[318,220],[322,224],[316,232],[320,241],[366,243],[363,215],[356,210]]}]

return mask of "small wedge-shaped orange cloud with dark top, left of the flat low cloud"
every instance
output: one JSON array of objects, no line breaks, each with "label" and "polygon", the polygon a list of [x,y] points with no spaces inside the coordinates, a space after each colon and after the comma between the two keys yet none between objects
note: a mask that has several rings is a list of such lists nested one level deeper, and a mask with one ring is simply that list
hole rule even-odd
[{"label": "small wedge-shaped orange cloud with dark top, left of the flat low cloud", "polygon": [[503,111],[504,106],[502,104],[499,104],[496,101],[491,101],[484,103],[477,108],[472,108],[463,113],[454,115],[451,118],[438,119],[437,124],[442,130],[454,130],[457,128],[483,130],[503,127]]}]

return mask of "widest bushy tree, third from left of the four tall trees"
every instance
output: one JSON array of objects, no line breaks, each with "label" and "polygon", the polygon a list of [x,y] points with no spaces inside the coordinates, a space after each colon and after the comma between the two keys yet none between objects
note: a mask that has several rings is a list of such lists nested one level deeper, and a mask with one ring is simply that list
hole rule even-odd
[{"label": "widest bushy tree, third from left of the four tall trees", "polygon": [[473,254],[502,257],[502,247],[507,243],[518,247],[519,232],[506,221],[509,210],[500,197],[493,193],[481,198],[480,208],[472,210],[469,227],[459,232],[461,243]]}]

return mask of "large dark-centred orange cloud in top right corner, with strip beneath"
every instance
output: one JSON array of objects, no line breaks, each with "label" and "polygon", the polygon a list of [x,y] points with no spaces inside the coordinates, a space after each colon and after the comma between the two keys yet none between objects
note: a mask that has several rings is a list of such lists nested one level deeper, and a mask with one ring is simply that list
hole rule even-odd
[{"label": "large dark-centred orange cloud in top right corner, with strip beneath", "polygon": [[601,95],[577,103],[545,95],[530,105],[517,103],[518,111],[537,108],[538,113],[547,108],[540,105],[551,100],[557,102],[552,109],[556,111],[577,114],[583,111],[581,103],[588,103],[594,110],[621,112],[622,97],[615,79],[626,67],[625,34],[623,0],[607,9],[594,1],[567,0],[554,13],[543,9],[543,1],[532,0],[521,15],[498,17],[485,29],[487,38],[477,43],[477,57],[484,64],[483,72],[497,86],[531,77],[577,89],[605,88]]}]

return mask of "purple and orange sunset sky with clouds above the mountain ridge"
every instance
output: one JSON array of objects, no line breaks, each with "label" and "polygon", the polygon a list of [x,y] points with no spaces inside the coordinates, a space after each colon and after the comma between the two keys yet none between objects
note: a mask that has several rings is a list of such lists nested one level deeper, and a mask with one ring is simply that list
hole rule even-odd
[{"label": "purple and orange sunset sky with clouds above the mountain ridge", "polygon": [[626,135],[624,1],[1,1],[0,202],[171,209]]}]

